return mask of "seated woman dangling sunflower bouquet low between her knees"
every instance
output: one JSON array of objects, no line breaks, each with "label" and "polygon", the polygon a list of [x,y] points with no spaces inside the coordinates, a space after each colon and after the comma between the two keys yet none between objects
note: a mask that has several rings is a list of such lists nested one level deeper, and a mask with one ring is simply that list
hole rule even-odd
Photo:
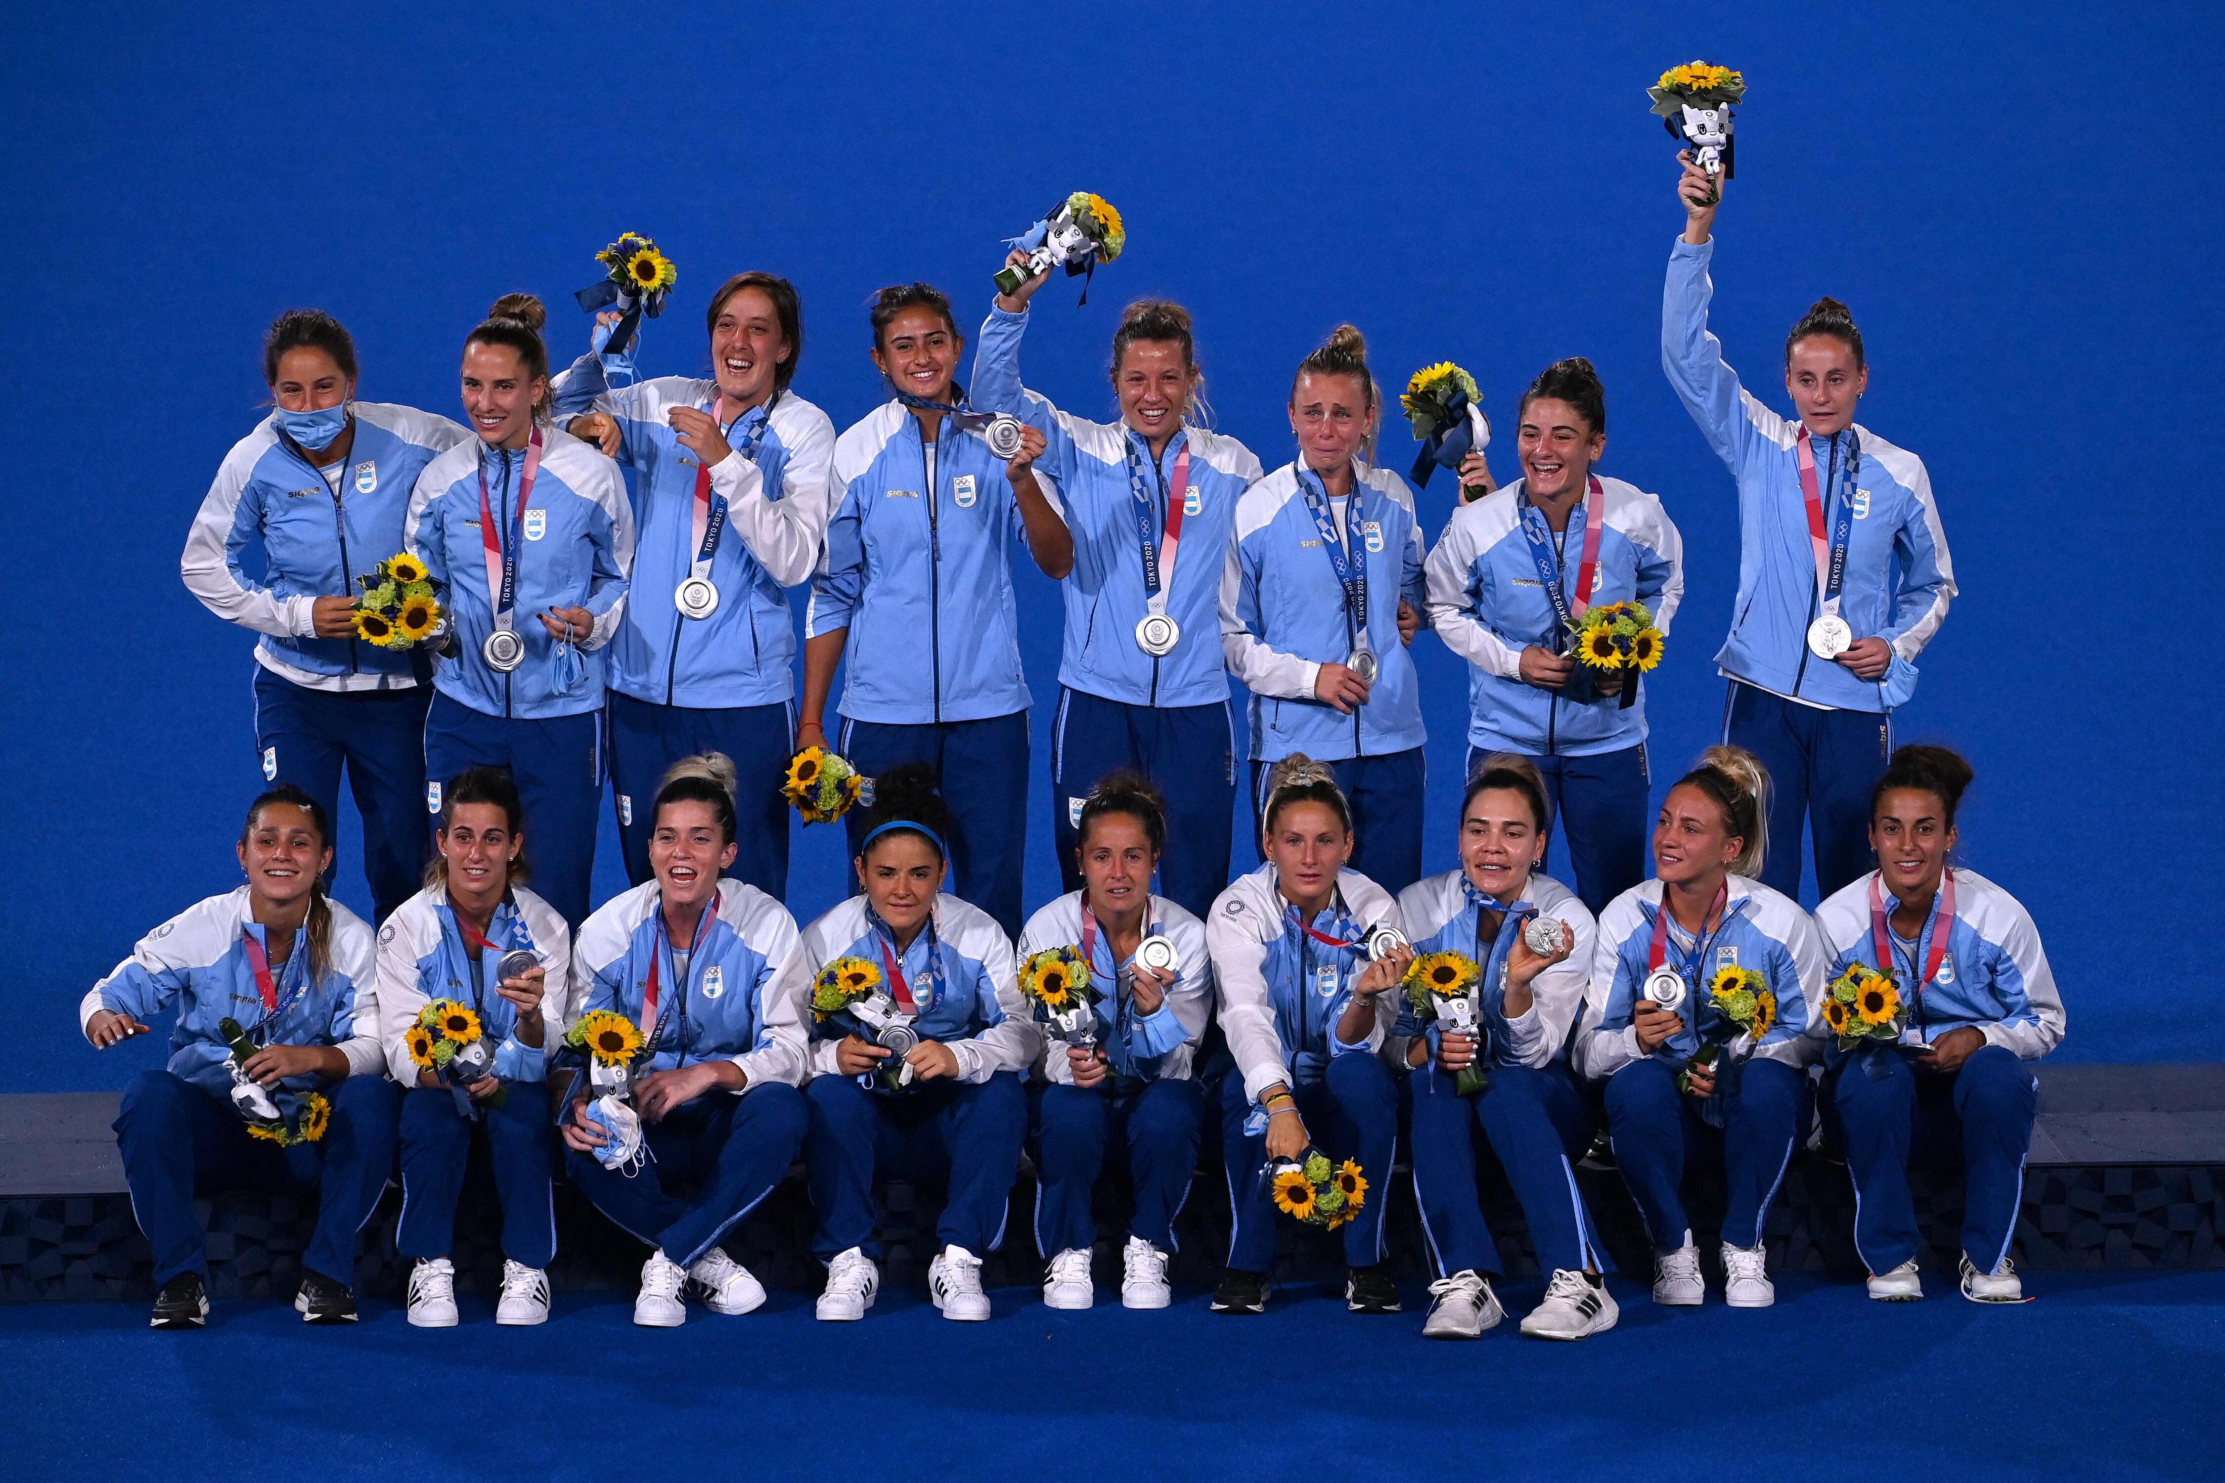
[{"label": "seated woman dangling sunflower bouquet low between her knees", "polygon": [[1355,1314],[1395,1314],[1382,1190],[1397,1158],[1397,1083],[1380,1052],[1413,952],[1400,943],[1368,958],[1368,932],[1400,927],[1400,912],[1388,892],[1346,869],[1353,809],[1328,767],[1304,754],[1275,763],[1262,816],[1266,865],[1222,892],[1206,918],[1235,1056],[1222,1081],[1233,1232],[1213,1312],[1266,1310],[1275,1205],[1264,1165],[1319,1143],[1333,1158],[1355,1158],[1375,1190],[1344,1225],[1344,1303]]}]

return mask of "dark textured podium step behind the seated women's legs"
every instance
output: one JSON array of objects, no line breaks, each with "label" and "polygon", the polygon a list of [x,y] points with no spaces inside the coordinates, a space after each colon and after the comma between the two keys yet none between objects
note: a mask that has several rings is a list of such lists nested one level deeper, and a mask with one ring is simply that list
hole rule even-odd
[{"label": "dark textured podium step behind the seated women's legs", "polygon": [[[109,1123],[113,1092],[0,1096],[0,1301],[149,1298],[147,1241],[131,1216]],[[1600,1238],[1624,1272],[1646,1272],[1651,1256],[1638,1212],[1613,1170],[1578,1170]],[[1960,1181],[1914,1170],[1927,1267],[1951,1272],[1960,1227]],[[1480,1156],[1484,1214],[1506,1276],[1535,1278],[1529,1232],[1497,1161]],[[1388,1261],[1402,1278],[1426,1276],[1426,1245],[1404,1170],[1375,1181],[1388,1198]],[[1709,1263],[1722,1218],[1722,1183],[1707,1165],[1687,1181],[1695,1238]],[[919,1285],[934,1254],[939,1192],[890,1181],[883,1201],[883,1272]],[[209,1287],[216,1298],[289,1296],[300,1281],[314,1210],[294,1196],[216,1194],[196,1203],[209,1225]],[[356,1287],[398,1298],[409,1263],[394,1252],[398,1190],[365,1225]],[[1097,1192],[1097,1281],[1119,1285],[1128,1212],[1124,1181]],[[988,1258],[990,1285],[1041,1278],[1035,1254],[1035,1181],[1024,1170],[1012,1190],[1003,1247]],[[645,1250],[572,1192],[556,1185],[558,1252],[550,1278],[563,1290],[632,1292]],[[810,1254],[810,1201],[801,1174],[728,1236],[728,1250],[768,1287],[817,1290]],[[2027,1163],[2016,1258],[2047,1267],[2225,1267],[2225,1063],[2221,1065],[2060,1065],[2040,1069],[2040,1116]],[[501,1281],[501,1221],[485,1170],[467,1183],[456,1218],[458,1290],[492,1292]],[[1206,1152],[1190,1198],[1175,1223],[1177,1283],[1213,1283],[1228,1250],[1228,1194],[1217,1141]],[[1771,1267],[1856,1281],[1853,1187],[1847,1170],[1802,1152],[1787,1170],[1769,1214]],[[1342,1241],[1286,1230],[1282,1283],[1342,1281]]]}]

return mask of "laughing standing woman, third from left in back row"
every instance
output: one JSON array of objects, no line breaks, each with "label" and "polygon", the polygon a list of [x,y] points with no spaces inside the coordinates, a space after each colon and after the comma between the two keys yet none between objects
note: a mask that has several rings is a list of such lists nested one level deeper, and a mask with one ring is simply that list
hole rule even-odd
[{"label": "laughing standing woman, third from left in back row", "polygon": [[[623,389],[603,356],[556,378],[556,418],[634,469],[634,569],[610,640],[610,774],[625,874],[650,878],[650,796],[683,756],[734,760],[741,836],[732,876],[788,896],[794,747],[794,618],[828,529],[834,425],[790,389],[803,358],[797,289],[736,273],[712,293],[708,380],[659,376]],[[576,416],[583,414],[583,416]],[[710,556],[705,556],[705,547]],[[705,611],[681,607],[705,578]]]}]

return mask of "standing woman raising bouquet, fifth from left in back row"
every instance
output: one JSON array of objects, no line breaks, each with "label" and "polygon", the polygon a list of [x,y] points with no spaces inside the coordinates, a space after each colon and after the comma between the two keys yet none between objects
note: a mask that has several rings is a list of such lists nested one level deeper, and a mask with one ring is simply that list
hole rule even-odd
[{"label": "standing woman raising bouquet, fifth from left in back row", "polygon": [[[1028,253],[1012,253],[1024,265]],[[1222,563],[1237,498],[1259,478],[1248,447],[1204,427],[1190,311],[1144,298],[1112,331],[1119,420],[1061,411],[1019,380],[1028,300],[1048,269],[999,293],[975,351],[975,402],[1048,438],[1044,469],[1075,534],[1066,654],[1050,734],[1052,834],[1066,889],[1090,785],[1130,767],[1166,798],[1166,896],[1204,914],[1228,883],[1235,720],[1219,640]],[[1219,758],[1215,763],[1215,758]]]}]

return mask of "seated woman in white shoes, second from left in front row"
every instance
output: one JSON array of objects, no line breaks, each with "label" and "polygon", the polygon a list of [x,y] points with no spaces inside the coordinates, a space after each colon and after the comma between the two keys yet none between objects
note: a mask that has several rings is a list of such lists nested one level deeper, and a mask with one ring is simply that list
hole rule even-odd
[{"label": "seated woman in white shoes, second from left in front row", "polygon": [[[572,932],[525,889],[525,818],[501,767],[472,767],[441,789],[438,856],[425,889],[378,934],[378,1014],[387,1065],[403,1094],[403,1221],[394,1236],[409,1272],[409,1323],[456,1325],[456,1198],[474,1134],[485,1129],[503,1203],[503,1292],[494,1321],[545,1323],[556,1256],[550,1194],[547,1054],[561,1034]],[[536,965],[503,974],[512,952]],[[472,1012],[494,1058],[476,1083],[432,1065],[441,1038],[418,1021],[432,1001]],[[454,1036],[449,1036],[454,1038]],[[454,1063],[452,1063],[454,1065]],[[469,1103],[458,1101],[463,1092]]]}]

